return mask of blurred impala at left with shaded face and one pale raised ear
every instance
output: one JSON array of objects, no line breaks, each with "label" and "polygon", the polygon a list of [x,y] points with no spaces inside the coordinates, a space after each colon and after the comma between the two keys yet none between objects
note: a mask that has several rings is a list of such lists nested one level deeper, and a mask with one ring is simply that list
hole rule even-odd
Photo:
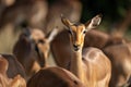
[{"label": "blurred impala at left with shaded face and one pale raised ear", "polygon": [[59,30],[55,28],[48,37],[37,28],[26,28],[20,35],[17,42],[14,45],[13,54],[25,69],[27,78],[47,66],[47,60],[50,52],[50,42]]}]

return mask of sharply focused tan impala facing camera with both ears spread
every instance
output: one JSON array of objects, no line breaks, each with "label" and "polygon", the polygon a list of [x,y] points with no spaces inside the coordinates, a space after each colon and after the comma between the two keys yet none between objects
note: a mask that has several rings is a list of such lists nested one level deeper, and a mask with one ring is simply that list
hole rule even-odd
[{"label": "sharply focused tan impala facing camera with both ears spread", "polygon": [[68,27],[72,57],[69,70],[87,87],[108,87],[111,76],[109,59],[97,48],[84,48],[86,32],[100,23],[100,15],[96,15],[85,24],[71,23],[61,16],[62,23]]}]

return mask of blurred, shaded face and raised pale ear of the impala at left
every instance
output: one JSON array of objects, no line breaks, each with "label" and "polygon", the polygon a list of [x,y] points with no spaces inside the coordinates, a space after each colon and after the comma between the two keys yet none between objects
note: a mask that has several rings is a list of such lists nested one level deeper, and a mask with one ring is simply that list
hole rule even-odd
[{"label": "blurred, shaded face and raised pale ear of the impala at left", "polygon": [[[38,38],[36,41],[36,50],[39,55],[39,61],[41,66],[46,66],[46,60],[49,58],[50,42],[53,40],[56,35],[59,33],[58,28],[53,28],[51,33],[43,38]],[[44,63],[45,62],[45,63]],[[43,65],[45,64],[45,65]]]}]

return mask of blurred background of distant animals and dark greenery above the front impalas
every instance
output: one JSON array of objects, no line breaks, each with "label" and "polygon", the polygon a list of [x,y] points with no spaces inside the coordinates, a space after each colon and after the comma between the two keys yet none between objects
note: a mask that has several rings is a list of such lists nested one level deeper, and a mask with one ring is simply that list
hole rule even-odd
[{"label": "blurred background of distant animals and dark greenery above the front impalas", "polygon": [[26,26],[48,34],[55,26],[63,28],[60,14],[85,23],[99,13],[97,29],[131,39],[131,0],[0,0],[0,53],[12,53]]}]

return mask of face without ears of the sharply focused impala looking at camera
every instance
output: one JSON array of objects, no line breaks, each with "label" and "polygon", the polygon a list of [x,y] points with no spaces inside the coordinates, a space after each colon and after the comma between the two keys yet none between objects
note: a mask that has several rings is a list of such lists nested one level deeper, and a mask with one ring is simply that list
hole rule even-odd
[{"label": "face without ears of the sharply focused impala looking at camera", "polygon": [[74,51],[79,51],[83,47],[84,37],[86,34],[85,26],[83,24],[80,25],[71,25],[69,27],[71,47]]}]

